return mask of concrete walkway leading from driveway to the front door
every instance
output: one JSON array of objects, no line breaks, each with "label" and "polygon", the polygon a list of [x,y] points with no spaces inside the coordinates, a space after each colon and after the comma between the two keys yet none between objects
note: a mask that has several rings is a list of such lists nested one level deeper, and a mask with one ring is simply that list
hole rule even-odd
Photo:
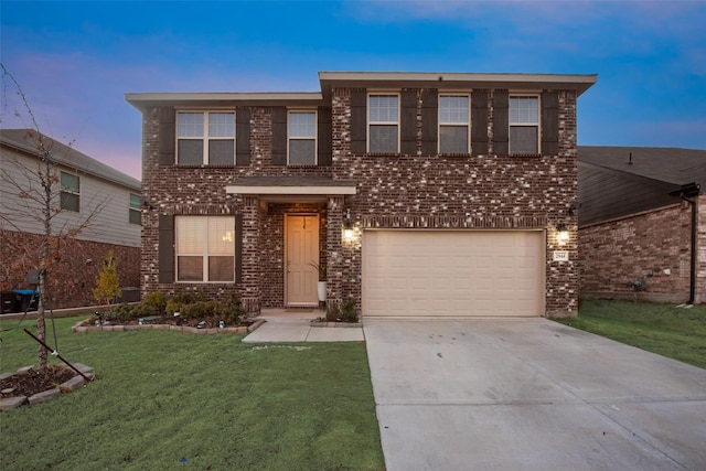
[{"label": "concrete walkway leading from driveway to the front door", "polygon": [[363,342],[362,325],[312,327],[311,321],[322,311],[264,311],[257,319],[266,322],[243,339],[244,343],[268,342]]}]

